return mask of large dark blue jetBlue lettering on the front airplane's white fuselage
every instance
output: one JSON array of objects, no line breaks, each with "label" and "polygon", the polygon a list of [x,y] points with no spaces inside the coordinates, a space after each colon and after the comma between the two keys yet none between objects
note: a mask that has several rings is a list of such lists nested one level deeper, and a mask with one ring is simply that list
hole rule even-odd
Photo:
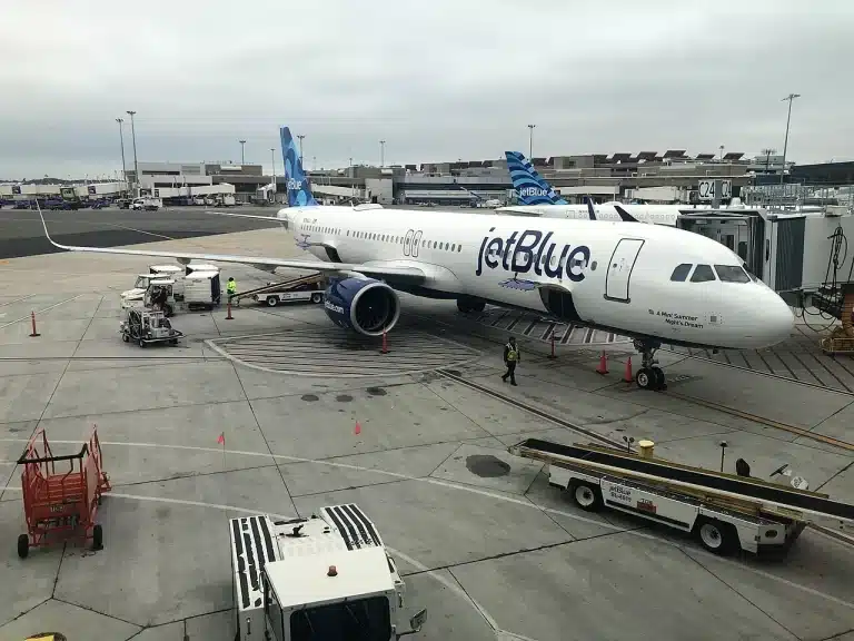
[{"label": "large dark blue jetBlue lettering on the front airplane's white fuselage", "polygon": [[[495,227],[489,229],[490,234],[493,231]],[[586,245],[568,244],[558,248],[558,245],[552,241],[552,236],[553,231],[544,235],[536,229],[526,229],[522,234],[514,231],[509,238],[485,236],[477,255],[475,275],[480,276],[484,268],[500,267],[515,275],[528,274],[534,269],[537,276],[566,276],[573,283],[584,280],[584,269],[590,262],[590,248]]]}]

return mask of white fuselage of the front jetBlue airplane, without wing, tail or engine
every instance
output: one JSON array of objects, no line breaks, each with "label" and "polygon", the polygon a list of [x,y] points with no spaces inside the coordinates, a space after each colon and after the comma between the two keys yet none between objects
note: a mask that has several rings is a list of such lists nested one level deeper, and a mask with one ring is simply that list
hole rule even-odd
[{"label": "white fuselage of the front jetBlue airplane, without wing, tail or engine", "polygon": [[[427,289],[548,313],[536,283],[570,294],[584,324],[627,335],[759,348],[793,328],[788,306],[747,277],[733,252],[682,229],[350,207],[292,207],[278,216],[297,245],[321,260],[331,262],[334,248],[342,263],[417,267],[427,274]],[[673,280],[679,265],[692,267],[684,280]],[[696,265],[726,266],[728,282],[714,274],[693,282]]]}]

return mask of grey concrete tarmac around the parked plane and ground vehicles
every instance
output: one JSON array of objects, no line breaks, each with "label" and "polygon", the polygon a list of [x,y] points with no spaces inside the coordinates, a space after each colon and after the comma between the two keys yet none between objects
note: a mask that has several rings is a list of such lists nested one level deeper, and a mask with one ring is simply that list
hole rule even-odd
[{"label": "grey concrete tarmac around the parked plane and ground vehicles", "polygon": [[[177,237],[168,223],[152,233]],[[299,253],[277,229],[147,247]],[[851,391],[663,349],[669,388],[643,392],[623,382],[622,337],[556,339],[553,359],[550,334],[532,336],[529,323],[491,323],[506,319],[496,308],[464,318],[453,302],[407,295],[388,354],[345,339],[321,306],[248,300],[231,320],[225,308],[178,314],[186,339],[142,351],[117,334],[118,293],[149,263],[0,262],[0,641],[231,641],[227,520],[350,501],[391,549],[407,613],[427,609],[413,639],[854,640],[850,544],[807,529],[784,560],[718,558],[645,521],[582,512],[540,464],[507,453],[529,436],[586,442],[572,424],[717,469],[726,441],[729,471],[737,457],[758,477],[787,463],[811,489],[854,501]],[[241,290],[277,278],[222,270]],[[518,387],[499,378],[508,333],[520,339]],[[594,371],[603,351],[605,375]],[[93,424],[113,486],[98,513],[103,549],[68,543],[20,560],[14,461],[39,427],[67,453]]]}]

